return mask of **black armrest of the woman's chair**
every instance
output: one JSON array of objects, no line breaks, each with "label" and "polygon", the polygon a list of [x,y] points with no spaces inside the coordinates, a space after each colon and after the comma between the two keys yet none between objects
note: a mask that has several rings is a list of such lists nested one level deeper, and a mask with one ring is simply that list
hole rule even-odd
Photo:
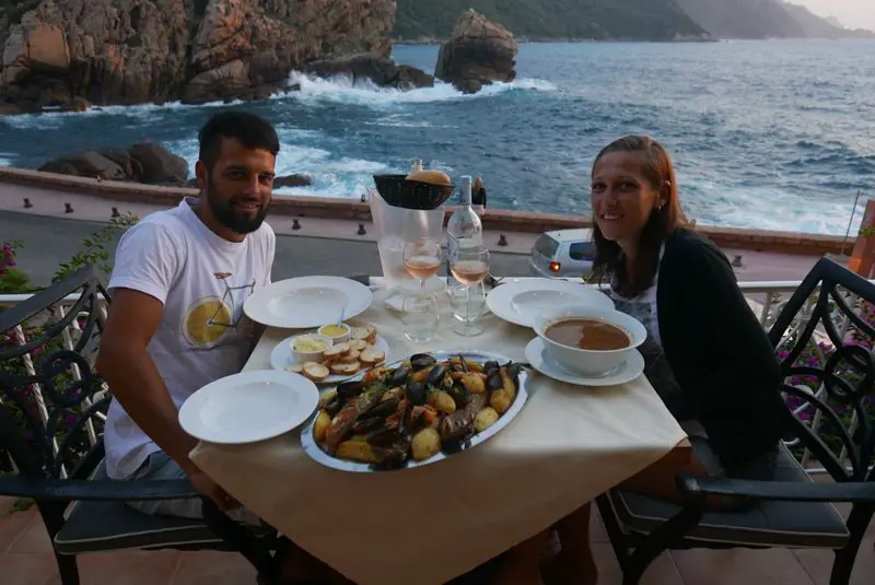
[{"label": "black armrest of the woman's chair", "polygon": [[679,476],[678,488],[687,496],[734,495],[786,502],[875,503],[875,482],[804,483]]}]

